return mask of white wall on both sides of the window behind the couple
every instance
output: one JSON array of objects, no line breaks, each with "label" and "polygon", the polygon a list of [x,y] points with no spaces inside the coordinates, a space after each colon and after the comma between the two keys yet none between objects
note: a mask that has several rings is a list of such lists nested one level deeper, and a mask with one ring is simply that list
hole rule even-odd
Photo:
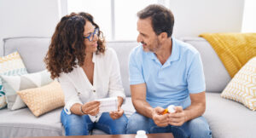
[{"label": "white wall on both sides of the window behind the couple", "polygon": [[[65,3],[67,0],[0,0],[0,46],[3,37],[51,37],[60,17],[67,14]],[[165,3],[170,4],[175,16],[175,37],[241,32],[244,0],[166,0]]]}]

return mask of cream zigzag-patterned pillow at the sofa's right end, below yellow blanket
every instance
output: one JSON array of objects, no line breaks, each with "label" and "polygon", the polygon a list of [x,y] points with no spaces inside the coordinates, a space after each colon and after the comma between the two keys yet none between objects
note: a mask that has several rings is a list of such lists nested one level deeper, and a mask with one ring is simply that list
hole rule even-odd
[{"label": "cream zigzag-patterned pillow at the sofa's right end, below yellow blanket", "polygon": [[253,111],[256,110],[256,57],[241,67],[221,96],[241,102]]}]

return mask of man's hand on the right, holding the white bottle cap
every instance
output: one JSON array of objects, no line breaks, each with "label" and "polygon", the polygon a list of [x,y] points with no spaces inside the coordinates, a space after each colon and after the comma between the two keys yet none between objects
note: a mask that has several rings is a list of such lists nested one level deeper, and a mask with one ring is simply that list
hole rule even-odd
[{"label": "man's hand on the right, holding the white bottle cap", "polygon": [[182,106],[175,106],[175,111],[173,113],[166,113],[168,114],[167,120],[168,124],[174,126],[181,126],[186,122],[185,112],[183,111]]}]

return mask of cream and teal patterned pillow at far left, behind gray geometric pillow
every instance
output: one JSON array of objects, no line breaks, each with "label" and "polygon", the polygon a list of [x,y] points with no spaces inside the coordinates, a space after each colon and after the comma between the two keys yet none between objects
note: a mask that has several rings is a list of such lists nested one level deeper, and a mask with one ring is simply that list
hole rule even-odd
[{"label": "cream and teal patterned pillow at far left, behind gray geometric pillow", "polygon": [[[0,57],[0,75],[26,74],[26,67],[18,52]],[[2,79],[0,78],[0,109],[6,106],[5,92],[3,91]]]}]

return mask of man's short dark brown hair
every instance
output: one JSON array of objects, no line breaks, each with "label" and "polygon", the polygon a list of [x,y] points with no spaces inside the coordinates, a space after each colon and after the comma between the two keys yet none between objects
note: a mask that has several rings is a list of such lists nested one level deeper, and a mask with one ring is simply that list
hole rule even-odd
[{"label": "man's short dark brown hair", "polygon": [[168,37],[172,36],[174,17],[170,9],[162,5],[151,4],[137,13],[139,19],[151,18],[153,30],[156,35],[166,32]]}]

